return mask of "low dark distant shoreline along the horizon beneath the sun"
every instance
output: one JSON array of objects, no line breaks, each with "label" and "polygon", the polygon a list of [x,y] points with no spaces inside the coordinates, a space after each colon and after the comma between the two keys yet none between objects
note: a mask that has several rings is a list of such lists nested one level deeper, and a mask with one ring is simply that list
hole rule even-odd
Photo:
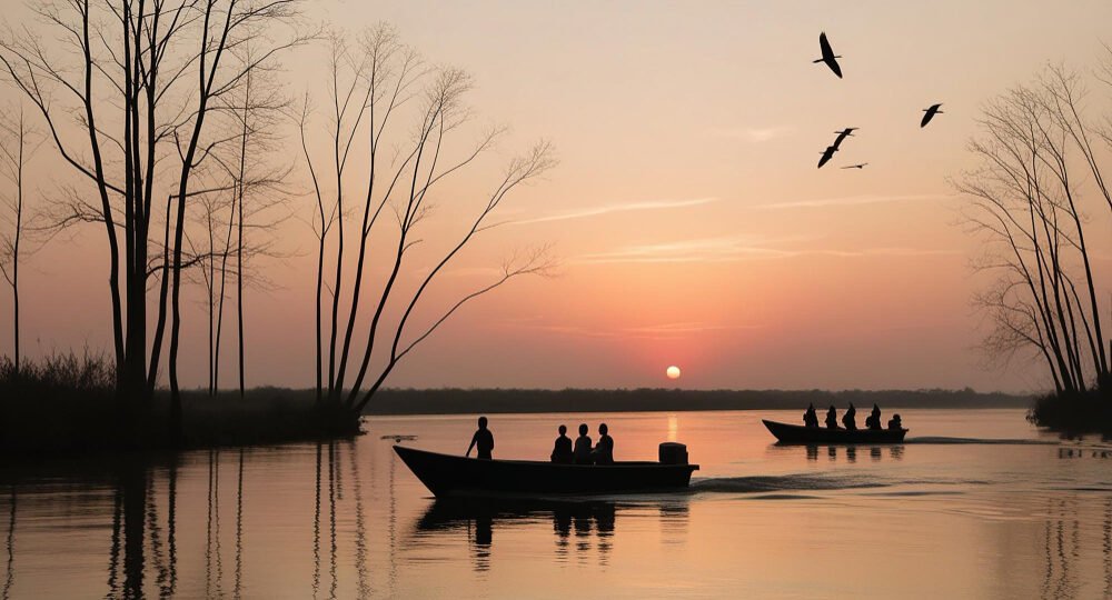
[{"label": "low dark distant shoreline along the horizon beneath the sun", "polygon": [[[305,391],[304,393],[311,393]],[[474,414],[537,412],[682,412],[713,410],[804,410],[814,403],[838,410],[880,404],[883,409],[1029,409],[1034,397],[973,390],[678,390],[678,389],[386,389],[364,414]]]}]

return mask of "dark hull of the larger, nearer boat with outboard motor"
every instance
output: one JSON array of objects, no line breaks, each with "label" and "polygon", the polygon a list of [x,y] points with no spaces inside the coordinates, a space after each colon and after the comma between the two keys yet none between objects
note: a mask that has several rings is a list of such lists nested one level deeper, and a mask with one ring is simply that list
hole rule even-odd
[{"label": "dark hull of the larger, nearer boat with outboard motor", "polygon": [[395,446],[401,461],[437,498],[547,497],[677,491],[698,464],[615,462],[557,464],[533,460],[479,460]]}]

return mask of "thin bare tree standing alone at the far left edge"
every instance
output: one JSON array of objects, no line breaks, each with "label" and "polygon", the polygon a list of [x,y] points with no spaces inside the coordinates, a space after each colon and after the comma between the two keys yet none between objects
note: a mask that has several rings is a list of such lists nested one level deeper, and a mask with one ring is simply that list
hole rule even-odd
[{"label": "thin bare tree standing alone at the far left edge", "polygon": [[14,346],[14,369],[19,374],[19,262],[27,256],[23,230],[27,217],[23,208],[23,167],[31,159],[38,147],[38,132],[27,122],[23,109],[20,107],[14,114],[0,112],[0,178],[8,181],[12,189],[0,194],[4,200],[4,212],[0,222],[4,231],[0,234],[0,273],[11,286],[12,297],[12,336]]}]

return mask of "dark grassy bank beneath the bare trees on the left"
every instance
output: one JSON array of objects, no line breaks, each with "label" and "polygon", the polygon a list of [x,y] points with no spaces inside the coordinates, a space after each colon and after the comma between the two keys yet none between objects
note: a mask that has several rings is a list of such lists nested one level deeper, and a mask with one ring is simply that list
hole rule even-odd
[{"label": "dark grassy bank beneath the bare trees on the left", "polygon": [[[54,354],[24,362],[17,374],[0,358],[0,450],[4,453],[168,448],[169,392],[127,406],[115,392],[112,361],[99,354]],[[358,421],[318,410],[314,398],[276,388],[209,397],[182,392],[187,447],[265,444],[351,436]]]}]

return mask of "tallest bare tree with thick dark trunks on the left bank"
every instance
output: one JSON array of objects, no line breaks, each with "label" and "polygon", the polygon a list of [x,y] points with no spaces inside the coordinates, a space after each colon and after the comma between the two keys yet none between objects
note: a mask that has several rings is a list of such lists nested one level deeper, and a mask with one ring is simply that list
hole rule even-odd
[{"label": "tallest bare tree with thick dark trunks on the left bank", "polygon": [[[193,186],[192,176],[236,139],[206,123],[221,117],[221,99],[251,68],[302,41],[290,29],[297,6],[298,0],[56,0],[34,7],[40,30],[0,38],[2,72],[38,109],[61,158],[97,190],[96,203],[78,197],[63,222],[105,227],[121,400],[136,403],[153,393],[169,294],[173,439],[180,437],[186,207],[212,191]],[[235,51],[249,40],[259,44],[254,60],[236,60]],[[172,227],[163,256],[170,264],[151,269],[155,199],[163,193],[166,226]],[[155,274],[161,284],[148,361],[147,293]]]}]

